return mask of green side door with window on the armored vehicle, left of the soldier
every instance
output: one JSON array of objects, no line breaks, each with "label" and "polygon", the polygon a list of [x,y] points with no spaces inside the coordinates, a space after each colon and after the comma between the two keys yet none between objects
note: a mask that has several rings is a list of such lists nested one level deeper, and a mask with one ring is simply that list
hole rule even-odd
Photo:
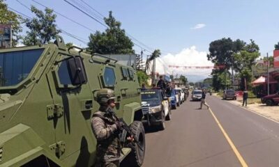
[{"label": "green side door with window on the armored vehicle, left of the soldier", "polygon": [[[54,124],[56,143],[51,147],[55,150],[56,157],[64,161],[66,166],[75,166],[76,163],[88,166],[92,163],[89,161],[89,152],[92,152],[96,145],[90,124],[93,97],[89,84],[72,84],[73,70],[70,69],[70,61],[73,60],[70,57],[60,53],[52,70],[47,74],[54,99],[49,112],[53,116],[50,121]],[[80,57],[80,60],[82,59]],[[72,65],[75,64],[77,63]],[[77,67],[77,70],[80,69],[84,70],[83,63],[81,67]]]}]

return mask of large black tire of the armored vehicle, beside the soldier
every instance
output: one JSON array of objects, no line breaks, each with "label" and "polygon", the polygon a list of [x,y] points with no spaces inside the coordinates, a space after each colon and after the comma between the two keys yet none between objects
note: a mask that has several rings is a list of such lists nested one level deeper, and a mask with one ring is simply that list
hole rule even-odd
[{"label": "large black tire of the armored vehicle, beside the soldier", "polygon": [[144,162],[145,154],[145,132],[144,125],[142,122],[135,120],[131,125],[130,129],[133,133],[133,136],[139,144],[129,143],[128,147],[132,149],[130,154],[127,157],[127,166],[142,166]]}]

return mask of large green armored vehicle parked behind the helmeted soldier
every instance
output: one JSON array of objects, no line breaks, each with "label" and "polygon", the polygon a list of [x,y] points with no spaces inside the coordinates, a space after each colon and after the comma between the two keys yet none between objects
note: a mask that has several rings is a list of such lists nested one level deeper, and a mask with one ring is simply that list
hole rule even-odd
[{"label": "large green armored vehicle parked behind the helmeted soldier", "polygon": [[96,93],[110,88],[116,115],[138,143],[123,143],[121,160],[141,166],[145,138],[140,86],[132,67],[54,44],[0,50],[0,166],[93,166],[91,116]]}]

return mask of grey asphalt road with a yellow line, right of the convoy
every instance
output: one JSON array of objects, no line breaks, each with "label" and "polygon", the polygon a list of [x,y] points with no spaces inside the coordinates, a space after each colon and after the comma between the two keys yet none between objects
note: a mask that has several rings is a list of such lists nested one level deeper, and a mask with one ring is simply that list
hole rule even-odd
[{"label": "grey asphalt road with a yellow line, right of the convoy", "polygon": [[143,166],[279,166],[278,122],[218,97],[206,102],[210,110],[189,101],[172,110],[164,131],[146,129]]}]

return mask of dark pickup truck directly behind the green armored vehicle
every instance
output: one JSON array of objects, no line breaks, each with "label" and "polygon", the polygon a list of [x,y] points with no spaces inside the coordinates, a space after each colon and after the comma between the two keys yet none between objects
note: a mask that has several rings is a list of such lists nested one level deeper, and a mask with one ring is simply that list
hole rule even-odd
[{"label": "dark pickup truck directly behind the green armored vehicle", "polygon": [[159,129],[165,129],[165,120],[171,119],[171,107],[164,91],[158,88],[142,90],[142,112],[145,125],[159,125]]}]

